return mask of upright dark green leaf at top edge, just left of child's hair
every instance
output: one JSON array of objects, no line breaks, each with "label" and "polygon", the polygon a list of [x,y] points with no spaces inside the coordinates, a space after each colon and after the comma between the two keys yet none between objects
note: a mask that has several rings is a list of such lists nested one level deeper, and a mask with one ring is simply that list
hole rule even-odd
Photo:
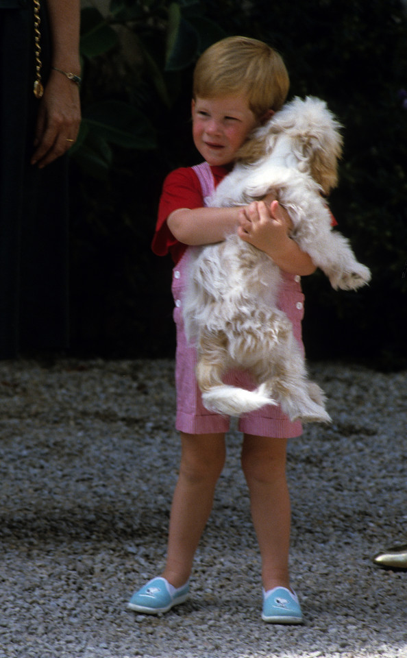
[{"label": "upright dark green leaf at top edge, just left of child's hair", "polygon": [[167,27],[166,71],[181,71],[192,64],[198,52],[198,35],[195,27],[182,15],[180,5],[169,6]]}]

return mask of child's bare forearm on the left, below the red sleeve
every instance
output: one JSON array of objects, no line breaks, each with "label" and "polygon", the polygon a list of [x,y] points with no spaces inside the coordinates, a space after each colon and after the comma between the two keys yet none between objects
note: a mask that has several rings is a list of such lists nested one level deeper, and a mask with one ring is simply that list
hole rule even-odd
[{"label": "child's bare forearm on the left, below the red sleeve", "polygon": [[167,219],[169,230],[184,245],[221,242],[236,231],[240,208],[178,208]]}]

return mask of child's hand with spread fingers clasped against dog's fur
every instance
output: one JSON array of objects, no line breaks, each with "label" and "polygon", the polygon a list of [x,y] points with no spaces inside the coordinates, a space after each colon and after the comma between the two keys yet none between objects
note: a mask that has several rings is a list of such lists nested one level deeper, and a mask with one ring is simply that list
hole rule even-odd
[{"label": "child's hand with spread fingers clasped against dog's fur", "polygon": [[286,249],[292,228],[288,212],[275,200],[270,206],[260,201],[240,210],[238,235],[271,258]]}]

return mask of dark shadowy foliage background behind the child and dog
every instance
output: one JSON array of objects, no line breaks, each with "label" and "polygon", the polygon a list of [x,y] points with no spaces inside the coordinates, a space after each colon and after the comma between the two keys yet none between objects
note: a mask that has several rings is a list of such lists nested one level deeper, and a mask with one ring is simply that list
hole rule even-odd
[{"label": "dark shadowy foliage background behind the child and dog", "polygon": [[334,292],[319,274],[304,280],[308,354],[406,366],[407,51],[399,0],[238,7],[111,0],[106,18],[82,10],[84,121],[72,152],[75,348],[173,354],[171,263],[152,256],[149,243],[164,176],[199,158],[188,126],[193,66],[229,34],[276,47],[291,94],[324,98],[344,125],[330,202],[373,280],[358,293]]}]

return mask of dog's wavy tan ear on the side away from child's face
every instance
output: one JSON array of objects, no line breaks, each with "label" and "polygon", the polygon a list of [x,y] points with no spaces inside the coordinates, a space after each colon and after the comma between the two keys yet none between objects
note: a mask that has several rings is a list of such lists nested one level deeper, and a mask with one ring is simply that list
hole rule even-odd
[{"label": "dog's wavy tan ear on the side away from child's face", "polygon": [[323,193],[328,195],[338,184],[338,159],[342,153],[341,135],[332,131],[330,134],[310,136],[304,144],[304,155],[309,158],[312,178],[321,185]]}]

